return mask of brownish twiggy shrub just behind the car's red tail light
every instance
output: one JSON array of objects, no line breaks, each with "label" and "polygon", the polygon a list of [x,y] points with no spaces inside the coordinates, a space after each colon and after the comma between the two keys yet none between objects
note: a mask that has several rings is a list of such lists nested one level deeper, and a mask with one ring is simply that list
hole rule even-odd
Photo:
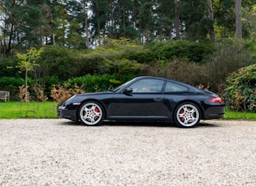
[{"label": "brownish twiggy shrub just behind the car's red tail light", "polygon": [[206,62],[205,81],[212,91],[223,93],[228,74],[254,63],[248,43],[243,40],[225,40],[216,44],[215,54]]}]

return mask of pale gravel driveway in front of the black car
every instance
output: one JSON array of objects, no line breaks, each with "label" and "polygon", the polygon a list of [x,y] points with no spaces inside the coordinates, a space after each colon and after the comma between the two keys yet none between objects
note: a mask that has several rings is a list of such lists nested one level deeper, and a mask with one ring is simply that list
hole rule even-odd
[{"label": "pale gravel driveway in front of the black car", "polygon": [[256,185],[256,121],[0,120],[0,185]]}]

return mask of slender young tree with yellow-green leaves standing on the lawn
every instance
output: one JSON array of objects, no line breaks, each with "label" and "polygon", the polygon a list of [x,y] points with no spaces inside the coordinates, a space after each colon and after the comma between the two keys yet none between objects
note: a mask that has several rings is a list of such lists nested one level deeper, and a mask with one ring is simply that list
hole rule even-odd
[{"label": "slender young tree with yellow-green leaves standing on the lawn", "polygon": [[17,53],[16,56],[20,59],[17,68],[20,69],[20,73],[25,71],[25,101],[28,102],[28,72],[34,70],[36,66],[39,66],[36,61],[41,57],[42,48],[37,50],[31,48],[27,53]]}]

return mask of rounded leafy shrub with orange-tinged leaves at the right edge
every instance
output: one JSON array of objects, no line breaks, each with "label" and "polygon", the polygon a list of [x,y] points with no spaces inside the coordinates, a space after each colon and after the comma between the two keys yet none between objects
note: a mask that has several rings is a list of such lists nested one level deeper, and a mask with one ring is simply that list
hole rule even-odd
[{"label": "rounded leafy shrub with orange-tinged leaves at the right edge", "polygon": [[243,67],[227,78],[225,98],[232,109],[256,112],[256,64]]}]

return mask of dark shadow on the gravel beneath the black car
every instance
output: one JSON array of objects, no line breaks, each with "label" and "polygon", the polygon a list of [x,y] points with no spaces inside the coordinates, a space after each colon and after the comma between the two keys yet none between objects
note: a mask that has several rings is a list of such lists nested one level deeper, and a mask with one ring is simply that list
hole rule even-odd
[{"label": "dark shadow on the gravel beneath the black car", "polygon": [[[72,120],[67,120],[65,122],[62,122],[60,125],[70,125],[70,126],[81,126],[81,127],[86,127],[85,125],[80,124],[79,122],[75,122]],[[98,126],[131,126],[131,127],[172,127],[172,128],[178,128],[177,125],[171,124],[169,122],[138,122],[138,121],[108,121],[104,120],[102,122],[102,125]],[[203,121],[200,123],[196,128],[201,128],[201,127],[207,127],[207,128],[213,128],[213,127],[220,127],[218,124],[212,124],[212,123],[207,123],[206,121]]]}]

